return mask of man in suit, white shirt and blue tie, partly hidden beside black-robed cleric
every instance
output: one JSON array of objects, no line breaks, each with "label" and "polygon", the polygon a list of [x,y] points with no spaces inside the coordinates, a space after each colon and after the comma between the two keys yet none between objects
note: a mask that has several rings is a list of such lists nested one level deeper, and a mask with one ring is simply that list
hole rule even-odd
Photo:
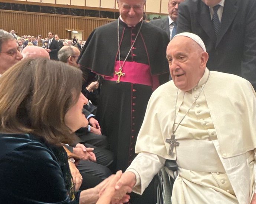
[{"label": "man in suit, white shirt and blue tie, partly hidden beside black-robed cleric", "polygon": [[178,5],[183,1],[184,0],[169,0],[168,1],[169,16],[167,18],[150,21],[151,24],[165,30],[170,40],[176,34]]}]

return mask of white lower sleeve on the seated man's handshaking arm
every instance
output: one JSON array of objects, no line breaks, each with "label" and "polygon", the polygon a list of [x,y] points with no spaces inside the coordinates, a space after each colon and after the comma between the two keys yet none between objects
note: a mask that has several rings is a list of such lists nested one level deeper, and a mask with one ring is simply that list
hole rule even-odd
[{"label": "white lower sleeve on the seated man's handshaking arm", "polygon": [[132,189],[137,194],[142,194],[148,187],[161,168],[164,166],[165,159],[156,154],[142,152],[135,157],[126,171],[132,171],[136,175],[136,184]]}]

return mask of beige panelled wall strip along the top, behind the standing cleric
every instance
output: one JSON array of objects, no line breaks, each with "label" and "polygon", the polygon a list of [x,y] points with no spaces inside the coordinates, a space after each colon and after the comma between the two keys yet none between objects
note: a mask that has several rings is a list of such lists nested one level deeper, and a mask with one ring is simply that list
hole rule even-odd
[{"label": "beige panelled wall strip along the top, behind the standing cleric", "polygon": [[[62,4],[70,5],[70,0],[14,0],[14,1],[27,1],[27,2],[41,2],[50,4]],[[147,0],[145,6],[146,13],[161,13],[168,14],[167,11],[168,0]],[[96,7],[96,8],[110,8],[117,9],[116,0],[71,0],[71,5],[74,6],[86,6],[86,7]]]}]

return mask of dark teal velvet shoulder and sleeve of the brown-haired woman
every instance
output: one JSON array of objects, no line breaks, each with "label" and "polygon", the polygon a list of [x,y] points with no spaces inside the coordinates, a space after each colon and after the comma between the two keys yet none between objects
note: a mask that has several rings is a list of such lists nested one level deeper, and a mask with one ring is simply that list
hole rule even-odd
[{"label": "dark teal velvet shoulder and sleeve of the brown-haired woman", "polygon": [[30,134],[0,134],[0,147],[0,203],[70,203],[51,147]]}]

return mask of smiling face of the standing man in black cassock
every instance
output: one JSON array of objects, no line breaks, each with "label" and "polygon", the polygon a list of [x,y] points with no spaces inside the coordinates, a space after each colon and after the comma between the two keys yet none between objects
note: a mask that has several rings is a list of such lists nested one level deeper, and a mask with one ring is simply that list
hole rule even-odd
[{"label": "smiling face of the standing man in black cassock", "polygon": [[143,16],[145,0],[119,0],[120,15],[128,26],[135,26]]}]

